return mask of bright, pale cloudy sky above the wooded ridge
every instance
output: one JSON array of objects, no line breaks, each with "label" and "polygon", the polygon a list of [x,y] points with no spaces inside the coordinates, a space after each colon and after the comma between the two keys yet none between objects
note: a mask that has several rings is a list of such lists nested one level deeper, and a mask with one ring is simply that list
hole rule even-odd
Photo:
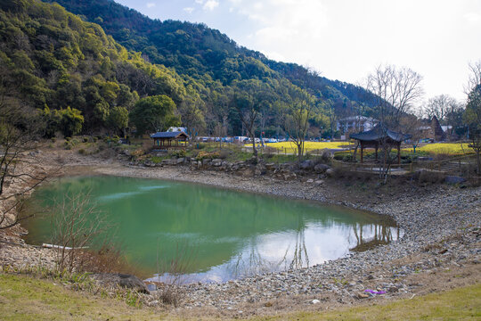
[{"label": "bright, pale cloudy sky above the wooded ridge", "polygon": [[116,0],[159,20],[203,22],[239,45],[361,83],[379,64],[423,76],[426,98],[464,100],[481,59],[481,0]]}]

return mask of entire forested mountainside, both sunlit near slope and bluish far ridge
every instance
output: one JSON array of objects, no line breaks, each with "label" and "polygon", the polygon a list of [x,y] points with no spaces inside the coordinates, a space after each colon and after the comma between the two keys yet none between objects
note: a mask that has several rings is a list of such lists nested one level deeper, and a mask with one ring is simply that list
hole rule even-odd
[{"label": "entire forested mountainside, both sunlit near slope and bluish far ridge", "polygon": [[369,113],[362,88],[267,60],[205,25],[152,21],[109,0],[59,2],[79,15],[0,3],[3,92],[39,111],[45,136],[180,124],[192,135],[282,135],[296,99],[313,105],[308,135],[318,136],[336,117]]}]

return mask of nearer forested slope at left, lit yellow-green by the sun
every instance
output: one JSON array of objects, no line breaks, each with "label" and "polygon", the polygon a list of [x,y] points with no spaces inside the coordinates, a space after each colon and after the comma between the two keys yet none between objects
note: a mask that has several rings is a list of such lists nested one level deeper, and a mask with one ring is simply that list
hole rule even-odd
[{"label": "nearer forested slope at left, lit yellow-green by the sun", "polygon": [[[46,123],[85,119],[84,132],[127,126],[140,97],[183,101],[186,89],[173,70],[107,36],[58,4],[0,4],[0,72],[3,92],[43,111]],[[55,131],[59,128],[49,128]],[[77,134],[80,128],[69,134]]]}]

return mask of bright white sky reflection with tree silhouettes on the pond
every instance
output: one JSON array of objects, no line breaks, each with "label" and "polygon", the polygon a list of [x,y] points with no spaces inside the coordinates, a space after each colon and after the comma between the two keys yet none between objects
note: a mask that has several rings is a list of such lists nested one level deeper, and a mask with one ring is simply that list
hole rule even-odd
[{"label": "bright white sky reflection with tree silhouettes on the pond", "polygon": [[[206,272],[185,274],[183,283],[218,283],[268,272],[308,268],[310,262],[314,262],[314,265],[322,264],[342,257],[348,251],[367,251],[402,236],[399,228],[387,226],[386,223],[353,224],[348,230],[339,228],[337,233],[322,233],[319,229],[315,225],[305,226],[299,220],[298,229],[253,236],[229,261]],[[348,247],[339,244],[342,243],[342,237],[338,236],[341,231],[347,233],[345,240]],[[168,282],[171,277],[168,274],[156,275],[149,280]]]}]

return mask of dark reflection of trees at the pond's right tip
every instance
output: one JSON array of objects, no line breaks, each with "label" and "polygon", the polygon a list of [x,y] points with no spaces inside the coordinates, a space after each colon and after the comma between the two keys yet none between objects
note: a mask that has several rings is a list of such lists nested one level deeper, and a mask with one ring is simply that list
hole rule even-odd
[{"label": "dark reflection of trees at the pond's right tip", "polygon": [[[371,227],[371,232],[374,235],[368,238],[363,237],[363,231],[365,227]],[[393,229],[396,232],[396,239],[399,238],[399,228],[388,226],[386,224],[363,224],[355,223],[353,224],[353,231],[355,235],[355,247],[351,248],[350,251],[367,251],[374,246],[380,244],[387,244],[393,241]],[[371,233],[370,233],[371,235]]]}]

